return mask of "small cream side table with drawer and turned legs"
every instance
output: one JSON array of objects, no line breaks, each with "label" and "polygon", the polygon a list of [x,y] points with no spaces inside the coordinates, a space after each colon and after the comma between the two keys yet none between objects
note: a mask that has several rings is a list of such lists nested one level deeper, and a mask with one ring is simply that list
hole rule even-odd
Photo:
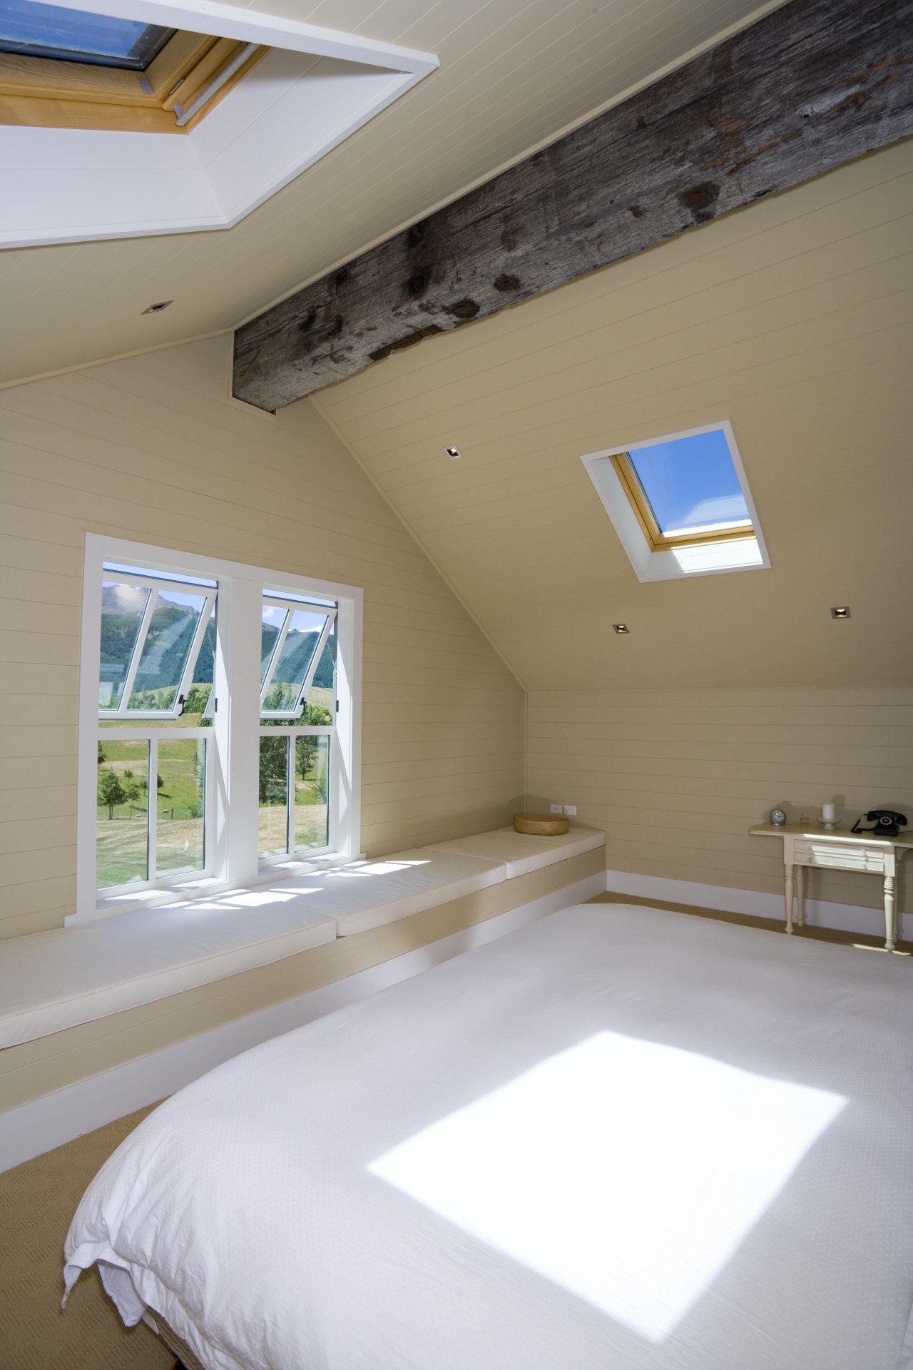
[{"label": "small cream side table with drawer and turned legs", "polygon": [[805,867],[827,870],[861,870],[880,875],[884,893],[884,949],[894,951],[897,941],[897,867],[905,851],[913,849],[913,833],[898,837],[876,837],[873,833],[851,833],[849,827],[803,827],[801,823],[757,823],[749,829],[751,837],[780,837],[783,840],[783,870],[786,892],[786,930],[793,932],[793,895],[795,893],[797,926],[805,925]]}]

